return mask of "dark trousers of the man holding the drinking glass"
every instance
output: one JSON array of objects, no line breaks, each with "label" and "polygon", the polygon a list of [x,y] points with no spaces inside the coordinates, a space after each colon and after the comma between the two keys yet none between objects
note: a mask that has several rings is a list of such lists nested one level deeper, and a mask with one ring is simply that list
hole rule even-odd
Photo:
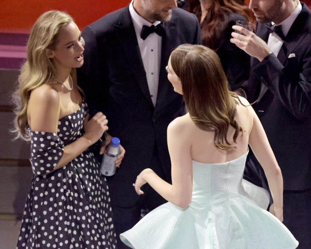
[{"label": "dark trousers of the man holding the drinking glass", "polygon": [[[248,154],[243,178],[267,189],[270,194],[270,204],[273,203],[265,173],[252,151]],[[284,190],[283,224],[298,240],[297,248],[311,248],[311,189]]]}]

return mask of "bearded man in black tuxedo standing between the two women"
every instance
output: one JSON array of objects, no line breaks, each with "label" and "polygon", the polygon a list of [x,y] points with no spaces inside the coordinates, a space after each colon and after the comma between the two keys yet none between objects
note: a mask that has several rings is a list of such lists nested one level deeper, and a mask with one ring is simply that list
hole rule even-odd
[{"label": "bearded man in black tuxedo standing between the two women", "polygon": [[90,109],[109,120],[106,142],[116,136],[126,150],[120,169],[107,177],[118,248],[127,248],[119,234],[139,221],[141,209],[165,202],[149,186],[138,196],[132,186],[136,176],[151,168],[171,182],[166,129],[185,107],[165,66],[178,45],[201,43],[196,16],[176,7],[175,0],[132,0],[82,33],[85,62],[78,84]]}]

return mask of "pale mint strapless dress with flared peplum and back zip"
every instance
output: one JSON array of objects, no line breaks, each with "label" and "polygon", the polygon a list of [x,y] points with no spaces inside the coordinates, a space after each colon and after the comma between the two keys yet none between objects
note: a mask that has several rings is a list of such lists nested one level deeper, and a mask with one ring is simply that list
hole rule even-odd
[{"label": "pale mint strapless dress with flared peplum and back zip", "polygon": [[298,241],[242,186],[245,155],[221,164],[193,161],[189,206],[167,202],[147,214],[121,240],[136,249],[277,249]]}]

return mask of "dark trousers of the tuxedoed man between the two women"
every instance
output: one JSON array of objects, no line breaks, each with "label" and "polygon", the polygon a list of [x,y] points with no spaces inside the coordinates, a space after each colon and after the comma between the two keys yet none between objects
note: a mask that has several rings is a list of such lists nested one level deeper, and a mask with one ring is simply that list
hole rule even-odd
[{"label": "dark trousers of the tuxedoed man between the two women", "polygon": [[[150,168],[162,179],[167,180],[163,173],[157,146],[154,147]],[[134,187],[133,187],[134,188]],[[114,215],[114,228],[117,234],[118,249],[130,248],[120,240],[120,233],[131,229],[140,219],[141,210],[149,211],[167,202],[161,197],[148,183],[142,186],[143,195],[140,195],[137,203],[130,207],[119,207],[112,204],[112,212]]]}]

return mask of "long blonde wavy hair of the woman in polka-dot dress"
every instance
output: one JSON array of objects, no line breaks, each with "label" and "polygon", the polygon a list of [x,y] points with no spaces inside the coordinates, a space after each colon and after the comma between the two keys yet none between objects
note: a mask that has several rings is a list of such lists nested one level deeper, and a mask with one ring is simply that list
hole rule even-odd
[{"label": "long blonde wavy hair of the woman in polka-dot dress", "polygon": [[[14,126],[16,138],[30,140],[27,107],[30,93],[46,84],[55,75],[55,67],[46,54],[46,49],[55,50],[60,31],[73,21],[68,14],[51,10],[42,14],[33,25],[27,42],[27,59],[18,77],[18,86],[13,94],[15,106]],[[75,76],[75,69],[71,71]]]}]

